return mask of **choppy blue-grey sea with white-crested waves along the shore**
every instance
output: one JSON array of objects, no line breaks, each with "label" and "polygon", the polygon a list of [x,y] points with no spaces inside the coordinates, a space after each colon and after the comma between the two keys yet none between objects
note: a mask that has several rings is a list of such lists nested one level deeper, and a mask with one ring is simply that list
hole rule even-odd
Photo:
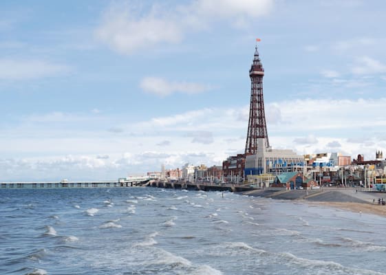
[{"label": "choppy blue-grey sea with white-crested waves along the shore", "polygon": [[385,229],[233,192],[3,188],[0,274],[386,274]]}]

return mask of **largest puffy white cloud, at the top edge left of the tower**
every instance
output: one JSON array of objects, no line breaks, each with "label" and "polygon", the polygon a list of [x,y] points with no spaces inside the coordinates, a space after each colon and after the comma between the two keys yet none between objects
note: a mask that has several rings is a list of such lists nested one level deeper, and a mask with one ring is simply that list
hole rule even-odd
[{"label": "largest puffy white cloud, at the top edge left of the tower", "polygon": [[195,0],[175,7],[152,5],[144,11],[131,2],[114,3],[105,12],[96,36],[120,54],[133,54],[160,43],[179,43],[187,32],[212,22],[245,25],[248,20],[268,14],[272,7],[272,0]]}]

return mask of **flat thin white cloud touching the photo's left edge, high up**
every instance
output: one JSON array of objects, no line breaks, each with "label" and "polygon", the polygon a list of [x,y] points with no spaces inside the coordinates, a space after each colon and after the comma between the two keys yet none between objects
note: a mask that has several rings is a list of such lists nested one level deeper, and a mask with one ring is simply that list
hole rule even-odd
[{"label": "flat thin white cloud touching the photo's left edge, high up", "polygon": [[0,59],[0,79],[3,80],[45,78],[69,71],[66,65],[57,65],[47,61]]}]

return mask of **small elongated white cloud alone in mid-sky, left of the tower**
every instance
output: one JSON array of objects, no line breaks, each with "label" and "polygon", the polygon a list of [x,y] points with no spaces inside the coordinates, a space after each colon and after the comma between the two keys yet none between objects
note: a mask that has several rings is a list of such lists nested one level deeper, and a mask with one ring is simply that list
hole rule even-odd
[{"label": "small elongated white cloud alone in mid-sky, left of the tower", "polygon": [[158,77],[143,78],[140,87],[147,93],[158,96],[169,96],[173,93],[197,94],[210,89],[210,87],[198,83],[170,82]]}]

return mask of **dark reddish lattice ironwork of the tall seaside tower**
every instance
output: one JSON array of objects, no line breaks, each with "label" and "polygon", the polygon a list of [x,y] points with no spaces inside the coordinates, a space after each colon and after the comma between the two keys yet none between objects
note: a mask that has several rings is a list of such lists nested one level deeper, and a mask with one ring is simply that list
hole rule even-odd
[{"label": "dark reddish lattice ironwork of the tall seaside tower", "polygon": [[248,133],[246,137],[246,154],[257,153],[257,139],[264,138],[266,140],[266,146],[269,147],[268,132],[266,124],[266,115],[264,111],[264,97],[263,97],[263,76],[264,68],[259,58],[259,52],[257,52],[257,46],[255,49],[255,56],[253,63],[249,70],[250,76],[250,110],[249,110],[249,122]]}]

